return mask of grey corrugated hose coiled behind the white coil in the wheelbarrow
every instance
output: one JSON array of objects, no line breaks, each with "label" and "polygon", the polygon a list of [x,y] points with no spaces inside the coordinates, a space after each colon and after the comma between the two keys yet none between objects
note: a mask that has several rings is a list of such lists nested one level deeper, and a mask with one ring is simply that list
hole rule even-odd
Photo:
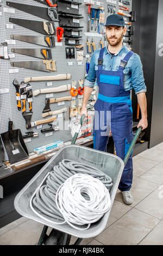
[{"label": "grey corrugated hose coiled behind the white coil in the wheelbarrow", "polygon": [[[41,212],[43,215],[55,219],[58,223],[64,222],[64,218],[55,204],[55,195],[60,185],[74,174],[89,174],[92,177],[101,180],[104,186],[109,190],[112,187],[112,179],[108,175],[104,174],[103,171],[91,165],[64,159],[59,162],[59,165],[54,166],[53,171],[49,172],[46,184],[43,184],[36,192],[32,202],[33,206],[39,210],[39,214]],[[82,195],[87,198],[86,194],[82,193]]]}]

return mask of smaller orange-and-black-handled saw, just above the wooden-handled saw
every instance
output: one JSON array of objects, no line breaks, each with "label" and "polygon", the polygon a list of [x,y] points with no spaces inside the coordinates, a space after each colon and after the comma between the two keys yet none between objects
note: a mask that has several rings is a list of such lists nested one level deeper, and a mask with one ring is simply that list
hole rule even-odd
[{"label": "smaller orange-and-black-handled saw, just above the wooden-handled saw", "polygon": [[51,59],[50,49],[11,49],[11,52],[27,55],[35,58]]}]

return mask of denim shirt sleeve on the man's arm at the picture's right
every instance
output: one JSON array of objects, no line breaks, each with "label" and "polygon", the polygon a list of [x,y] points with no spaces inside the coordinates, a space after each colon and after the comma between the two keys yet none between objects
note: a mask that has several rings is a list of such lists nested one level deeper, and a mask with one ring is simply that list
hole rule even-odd
[{"label": "denim shirt sleeve on the man's arm at the picture's right", "polygon": [[139,55],[134,54],[134,61],[131,67],[131,86],[135,90],[135,94],[146,92],[145,79],[143,76],[142,63]]}]

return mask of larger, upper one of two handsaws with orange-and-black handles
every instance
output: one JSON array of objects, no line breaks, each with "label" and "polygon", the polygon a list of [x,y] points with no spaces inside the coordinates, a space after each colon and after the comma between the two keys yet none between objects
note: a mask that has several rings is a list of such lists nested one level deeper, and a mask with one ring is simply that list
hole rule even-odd
[{"label": "larger, upper one of two handsaws with orange-and-black handles", "polygon": [[55,46],[55,38],[48,36],[37,36],[37,35],[10,35],[13,40],[20,40],[30,44],[37,44],[46,47]]}]

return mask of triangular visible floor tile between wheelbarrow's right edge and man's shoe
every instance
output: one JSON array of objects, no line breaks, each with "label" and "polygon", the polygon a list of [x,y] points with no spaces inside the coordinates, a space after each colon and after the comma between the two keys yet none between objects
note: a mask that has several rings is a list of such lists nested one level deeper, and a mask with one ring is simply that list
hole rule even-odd
[{"label": "triangular visible floor tile between wheelbarrow's right edge and man's shoe", "polygon": [[110,212],[110,216],[108,219],[108,223],[106,224],[106,228],[108,228],[112,223],[117,221],[118,218],[122,217],[125,213],[131,210],[129,205],[121,203],[120,201],[114,200],[112,205],[112,209]]}]

